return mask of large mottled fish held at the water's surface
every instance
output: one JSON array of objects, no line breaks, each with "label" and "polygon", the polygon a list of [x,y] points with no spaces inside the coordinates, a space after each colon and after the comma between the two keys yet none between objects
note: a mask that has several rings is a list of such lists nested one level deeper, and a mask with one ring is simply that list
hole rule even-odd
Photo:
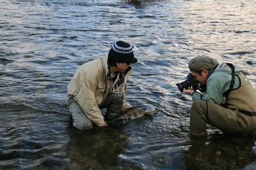
[{"label": "large mottled fish held at the water's surface", "polygon": [[144,115],[151,115],[153,112],[156,112],[156,107],[153,105],[136,105],[134,107],[130,107],[126,109],[124,112],[114,118],[113,120],[109,120],[109,125],[121,125],[127,121],[131,121],[137,118],[141,118]]}]

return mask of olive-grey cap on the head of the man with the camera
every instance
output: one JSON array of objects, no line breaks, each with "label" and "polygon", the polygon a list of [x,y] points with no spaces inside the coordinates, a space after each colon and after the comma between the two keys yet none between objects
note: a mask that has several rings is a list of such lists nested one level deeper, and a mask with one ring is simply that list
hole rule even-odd
[{"label": "olive-grey cap on the head of the man with the camera", "polygon": [[191,72],[196,72],[203,69],[212,69],[218,64],[218,61],[208,56],[198,56],[189,61],[188,68]]}]

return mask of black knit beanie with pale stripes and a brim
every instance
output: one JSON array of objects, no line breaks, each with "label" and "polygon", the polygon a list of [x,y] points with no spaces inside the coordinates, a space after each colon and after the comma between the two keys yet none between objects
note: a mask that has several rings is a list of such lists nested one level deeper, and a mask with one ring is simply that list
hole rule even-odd
[{"label": "black knit beanie with pale stripes and a brim", "polygon": [[134,58],[132,46],[123,41],[114,43],[108,56],[115,63],[136,63],[138,61]]}]

